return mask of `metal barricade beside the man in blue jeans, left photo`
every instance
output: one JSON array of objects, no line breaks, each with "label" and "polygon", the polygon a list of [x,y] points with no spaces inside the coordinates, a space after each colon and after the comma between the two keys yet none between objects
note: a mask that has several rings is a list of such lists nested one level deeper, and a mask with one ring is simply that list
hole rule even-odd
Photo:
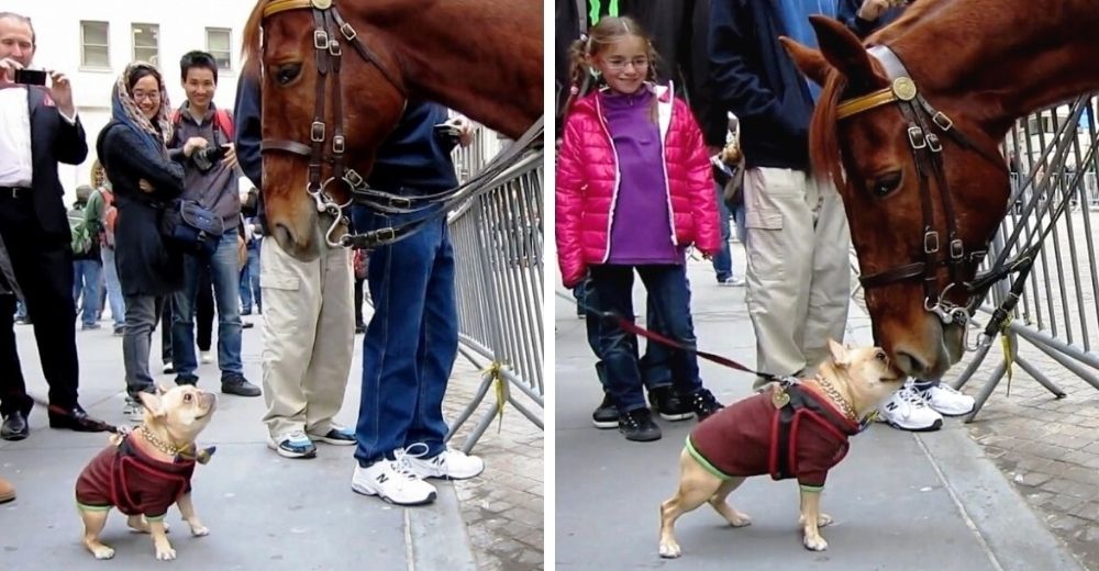
[{"label": "metal barricade beside the man in blue jeans, left photo", "polygon": [[[480,141],[475,149],[484,149]],[[484,166],[487,154],[456,156],[459,176],[468,178]],[[542,415],[526,402],[545,407],[542,373],[543,150],[532,152],[448,216],[454,245],[458,305],[458,352],[482,371],[473,402],[452,423],[449,439],[489,399],[463,450],[477,444],[504,405],[519,411],[539,428]],[[478,165],[477,161],[481,164]],[[519,398],[519,391],[529,401]]]}]

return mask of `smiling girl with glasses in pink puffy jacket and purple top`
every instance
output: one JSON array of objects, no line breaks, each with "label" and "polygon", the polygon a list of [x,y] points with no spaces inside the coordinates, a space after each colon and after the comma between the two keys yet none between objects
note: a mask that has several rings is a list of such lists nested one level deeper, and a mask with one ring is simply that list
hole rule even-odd
[{"label": "smiling girl with glasses in pink puffy jacket and purple top", "polygon": [[[568,109],[557,158],[557,255],[566,287],[589,277],[596,309],[628,318],[636,271],[657,313],[650,323],[693,347],[685,251],[691,244],[706,256],[718,250],[718,204],[698,124],[671,86],[652,82],[655,57],[630,18],[604,18],[574,45],[574,85],[592,74],[599,89]],[[636,337],[603,320],[599,356],[619,429],[630,440],[658,439]],[[674,351],[671,369],[674,387],[650,390],[662,416],[701,419],[721,408],[702,388],[695,352]]]}]

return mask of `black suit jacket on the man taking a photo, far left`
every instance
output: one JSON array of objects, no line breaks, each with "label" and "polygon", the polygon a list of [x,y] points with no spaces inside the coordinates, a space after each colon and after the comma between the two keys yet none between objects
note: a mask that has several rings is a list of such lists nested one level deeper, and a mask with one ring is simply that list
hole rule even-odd
[{"label": "black suit jacket on the man taking a photo, far left", "polygon": [[46,236],[68,243],[71,239],[68,209],[63,200],[65,189],[57,178],[57,164],[79,165],[88,157],[88,143],[84,126],[77,116],[69,124],[57,107],[47,104],[47,91],[41,87],[27,88],[31,113],[31,156],[34,177],[31,194],[36,214]]}]

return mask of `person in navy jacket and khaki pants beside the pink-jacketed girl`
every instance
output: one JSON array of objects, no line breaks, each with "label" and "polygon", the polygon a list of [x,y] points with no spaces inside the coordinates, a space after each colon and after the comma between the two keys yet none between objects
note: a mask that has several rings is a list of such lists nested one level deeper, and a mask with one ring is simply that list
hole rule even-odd
[{"label": "person in navy jacket and khaki pants beside the pink-jacketed girl", "polygon": [[834,18],[835,2],[712,0],[710,7],[711,94],[722,124],[726,111],[740,117],[747,167],[745,299],[756,370],[771,374],[806,373],[826,355],[829,337],[843,339],[851,293],[843,202],[809,164],[817,87],[777,41],[785,35],[815,46],[813,13]]}]

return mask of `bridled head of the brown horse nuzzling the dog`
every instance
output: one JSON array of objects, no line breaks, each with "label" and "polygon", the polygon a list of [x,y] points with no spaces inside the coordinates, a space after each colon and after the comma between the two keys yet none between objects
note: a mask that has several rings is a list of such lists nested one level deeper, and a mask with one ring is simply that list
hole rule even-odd
[{"label": "bridled head of the brown horse nuzzling the dog", "polygon": [[962,357],[966,282],[1007,208],[998,139],[959,93],[921,90],[892,52],[867,51],[835,20],[812,23],[820,51],[782,42],[823,86],[813,164],[843,195],[876,345],[906,373],[939,378]]}]

